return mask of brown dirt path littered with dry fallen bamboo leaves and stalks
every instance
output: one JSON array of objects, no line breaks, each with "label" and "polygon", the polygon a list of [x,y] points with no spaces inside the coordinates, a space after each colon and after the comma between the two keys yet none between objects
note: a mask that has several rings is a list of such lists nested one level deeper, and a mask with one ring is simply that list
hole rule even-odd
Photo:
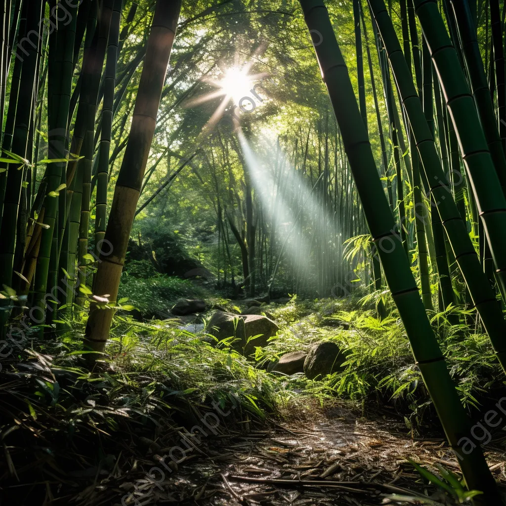
[{"label": "brown dirt path littered with dry fallen bamboo leaves and stalks", "polygon": [[[434,487],[425,487],[406,462],[411,457],[436,472],[431,466],[441,462],[458,473],[443,439],[412,440],[398,418],[383,414],[371,420],[333,408],[314,418],[209,441],[163,483],[146,481],[142,490],[132,489],[137,502],[127,499],[123,506],[172,502],[368,506],[399,504],[400,496],[418,494],[445,500]],[[506,483],[498,441],[487,450],[494,475]]]}]

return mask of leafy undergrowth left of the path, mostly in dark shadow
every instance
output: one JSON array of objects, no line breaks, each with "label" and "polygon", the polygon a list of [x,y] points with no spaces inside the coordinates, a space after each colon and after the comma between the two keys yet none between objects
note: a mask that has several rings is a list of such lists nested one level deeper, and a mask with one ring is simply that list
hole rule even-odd
[{"label": "leafy undergrowth left of the path, mostly in dark shadow", "polygon": [[[69,498],[109,503],[99,496],[106,488],[113,493],[111,483],[95,486],[102,475],[124,482],[135,469],[145,478],[155,454],[181,445],[181,434],[203,427],[206,416],[219,419],[218,426],[211,422],[214,433],[228,434],[262,423],[274,410],[268,373],[175,321],[148,325],[115,317],[108,369],[96,373],[85,368],[82,323],[73,326],[58,340],[31,333],[29,348],[2,362],[0,487],[10,503],[55,497],[65,504]],[[62,484],[55,497],[46,483]]]}]

